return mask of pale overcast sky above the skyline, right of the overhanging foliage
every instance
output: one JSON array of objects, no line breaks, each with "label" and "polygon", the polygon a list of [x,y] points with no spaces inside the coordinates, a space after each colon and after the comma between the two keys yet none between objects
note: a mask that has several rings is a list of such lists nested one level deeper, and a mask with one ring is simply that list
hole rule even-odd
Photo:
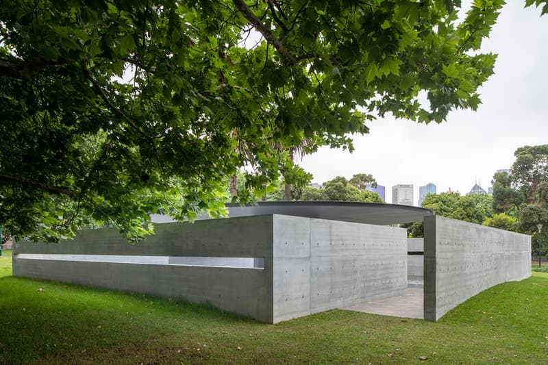
[{"label": "pale overcast sky above the skyline, right of the overhanging foliage", "polygon": [[488,190],[493,173],[512,166],[517,147],[548,144],[548,15],[524,3],[508,0],[482,45],[499,58],[477,112],[451,112],[439,125],[379,118],[368,123],[369,134],[353,137],[353,153],[323,148],[299,164],[318,183],[371,173],[386,186],[388,203],[395,184],[414,184],[415,205],[419,186],[429,182],[438,192],[466,194],[476,180]]}]

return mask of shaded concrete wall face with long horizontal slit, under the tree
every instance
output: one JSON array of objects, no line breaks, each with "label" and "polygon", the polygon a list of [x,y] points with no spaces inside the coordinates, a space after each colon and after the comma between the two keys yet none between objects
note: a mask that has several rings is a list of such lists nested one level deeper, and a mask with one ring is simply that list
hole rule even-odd
[{"label": "shaded concrete wall face with long horizontal slit, under the tree", "polygon": [[[154,236],[129,244],[116,229],[79,232],[56,244],[18,242],[15,276],[65,281],[163,297],[207,301],[223,310],[273,322],[272,216],[156,225]],[[204,266],[28,260],[19,253],[264,257],[264,269]]]}]

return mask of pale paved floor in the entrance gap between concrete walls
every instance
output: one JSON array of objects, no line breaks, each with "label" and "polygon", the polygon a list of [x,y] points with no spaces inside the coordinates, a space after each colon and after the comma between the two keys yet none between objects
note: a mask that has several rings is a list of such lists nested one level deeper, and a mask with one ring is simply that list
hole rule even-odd
[{"label": "pale paved floor in the entrance gap between concrete walls", "polygon": [[397,297],[363,301],[341,309],[382,314],[383,316],[424,319],[423,288],[409,287],[405,294]]}]

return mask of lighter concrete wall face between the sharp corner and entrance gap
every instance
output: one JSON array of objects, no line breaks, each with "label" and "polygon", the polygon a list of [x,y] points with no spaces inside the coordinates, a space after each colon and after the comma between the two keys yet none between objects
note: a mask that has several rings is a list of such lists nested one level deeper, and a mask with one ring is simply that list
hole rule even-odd
[{"label": "lighter concrete wall face between the sharp corner and entrance gap", "polygon": [[406,229],[276,216],[273,252],[277,320],[407,288]]}]

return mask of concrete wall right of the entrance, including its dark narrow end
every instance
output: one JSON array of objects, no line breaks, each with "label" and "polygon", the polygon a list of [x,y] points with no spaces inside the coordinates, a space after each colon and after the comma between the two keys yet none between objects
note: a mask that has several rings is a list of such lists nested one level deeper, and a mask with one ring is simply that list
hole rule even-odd
[{"label": "concrete wall right of the entrance, including its dark narrow end", "polygon": [[531,237],[425,217],[424,316],[438,320],[473,295],[531,275]]}]

